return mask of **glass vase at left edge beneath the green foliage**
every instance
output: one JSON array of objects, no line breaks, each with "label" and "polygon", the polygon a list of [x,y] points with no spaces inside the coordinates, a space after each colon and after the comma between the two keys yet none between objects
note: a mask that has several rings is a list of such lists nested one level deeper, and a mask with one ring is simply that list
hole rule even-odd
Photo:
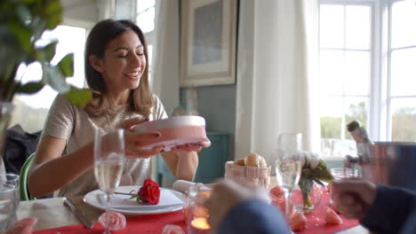
[{"label": "glass vase at left edge beneath the green foliage", "polygon": [[7,127],[9,126],[9,121],[12,118],[12,111],[14,105],[11,102],[1,102],[0,101],[0,174],[5,173],[4,167],[4,146],[6,142]]}]

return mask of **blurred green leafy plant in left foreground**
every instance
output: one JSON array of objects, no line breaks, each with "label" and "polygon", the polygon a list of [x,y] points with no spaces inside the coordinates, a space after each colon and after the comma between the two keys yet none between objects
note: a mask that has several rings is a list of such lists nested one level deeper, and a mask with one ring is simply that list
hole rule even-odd
[{"label": "blurred green leafy plant in left foreground", "polygon": [[[62,11],[60,0],[0,1],[0,171],[4,169],[4,139],[16,93],[36,93],[44,85],[50,85],[65,93],[74,105],[84,106],[92,99],[91,91],[76,89],[65,81],[73,75],[74,55],[68,54],[52,65],[58,42],[43,46],[37,43],[45,30],[60,24]],[[19,66],[34,62],[42,66],[42,79],[21,83],[21,77],[16,77]]]}]

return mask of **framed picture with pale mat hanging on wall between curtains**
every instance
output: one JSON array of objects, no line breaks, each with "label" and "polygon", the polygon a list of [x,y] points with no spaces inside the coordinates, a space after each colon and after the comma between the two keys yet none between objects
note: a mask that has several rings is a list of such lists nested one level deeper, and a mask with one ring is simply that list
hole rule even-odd
[{"label": "framed picture with pale mat hanging on wall between curtains", "polygon": [[236,0],[181,0],[180,87],[236,82]]}]

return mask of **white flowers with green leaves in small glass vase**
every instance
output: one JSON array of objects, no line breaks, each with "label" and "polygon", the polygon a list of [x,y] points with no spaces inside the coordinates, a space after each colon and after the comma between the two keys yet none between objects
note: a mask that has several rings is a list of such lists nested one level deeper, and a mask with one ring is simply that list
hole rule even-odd
[{"label": "white flowers with green leaves in small glass vase", "polygon": [[302,192],[303,208],[308,210],[313,207],[310,199],[310,191],[314,182],[325,186],[323,182],[331,183],[333,176],[330,170],[326,167],[324,160],[319,158],[319,155],[314,152],[300,152],[300,160],[302,170],[300,173],[299,187]]}]

